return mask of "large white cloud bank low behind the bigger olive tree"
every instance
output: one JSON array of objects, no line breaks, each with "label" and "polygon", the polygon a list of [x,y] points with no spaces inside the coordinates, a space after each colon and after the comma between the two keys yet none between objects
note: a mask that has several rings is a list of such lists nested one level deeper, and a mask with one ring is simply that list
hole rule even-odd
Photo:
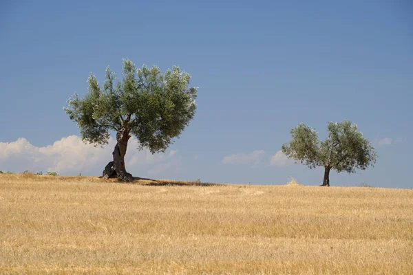
[{"label": "large white cloud bank low behind the bigger olive tree", "polygon": [[[54,142],[52,145],[37,147],[23,137],[15,142],[0,142],[0,170],[21,172],[23,170],[55,171],[62,175],[100,175],[105,165],[112,160],[112,151],[116,141],[110,137],[109,144],[103,148],[85,144],[80,137],[70,135]],[[169,168],[177,151],[151,154],[148,150],[138,151],[138,142],[129,140],[125,163],[127,170],[135,173],[149,173],[153,166],[163,164],[160,172]]]}]

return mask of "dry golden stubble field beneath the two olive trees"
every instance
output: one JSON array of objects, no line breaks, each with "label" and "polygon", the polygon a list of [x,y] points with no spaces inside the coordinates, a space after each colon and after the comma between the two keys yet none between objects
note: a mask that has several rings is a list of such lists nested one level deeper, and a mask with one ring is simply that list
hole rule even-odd
[{"label": "dry golden stubble field beneath the two olive trees", "polygon": [[0,175],[0,274],[413,274],[413,190]]}]

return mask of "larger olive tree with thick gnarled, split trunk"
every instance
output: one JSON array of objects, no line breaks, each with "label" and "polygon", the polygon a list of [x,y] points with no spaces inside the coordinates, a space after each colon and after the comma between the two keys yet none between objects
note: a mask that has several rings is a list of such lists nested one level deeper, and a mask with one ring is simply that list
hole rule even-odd
[{"label": "larger olive tree with thick gnarled, split trunk", "polygon": [[136,137],[139,150],[164,152],[192,120],[198,87],[189,87],[191,76],[176,66],[161,74],[156,66],[136,69],[134,63],[124,60],[123,74],[123,81],[117,81],[107,67],[103,87],[90,74],[89,93],[82,99],[75,94],[63,109],[78,124],[85,142],[108,144],[109,131],[116,132],[113,161],[103,176],[131,181],[125,168],[129,138]]}]

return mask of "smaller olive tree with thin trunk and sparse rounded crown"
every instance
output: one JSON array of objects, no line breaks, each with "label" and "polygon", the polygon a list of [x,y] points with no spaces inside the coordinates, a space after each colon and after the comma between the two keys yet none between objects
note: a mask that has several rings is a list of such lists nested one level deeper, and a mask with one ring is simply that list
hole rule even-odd
[{"label": "smaller olive tree with thin trunk and sparse rounded crown", "polygon": [[328,139],[319,142],[315,129],[304,123],[299,124],[290,133],[293,140],[282,146],[282,152],[309,168],[324,167],[324,179],[321,186],[330,186],[330,170],[337,173],[354,173],[356,169],[365,170],[374,166],[377,154],[372,144],[357,131],[357,125],[348,120],[328,122]]}]

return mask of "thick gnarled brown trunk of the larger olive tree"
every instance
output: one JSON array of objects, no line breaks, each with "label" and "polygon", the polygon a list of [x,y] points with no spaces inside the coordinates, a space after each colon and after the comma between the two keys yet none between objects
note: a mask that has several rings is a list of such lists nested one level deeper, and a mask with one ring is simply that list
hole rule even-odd
[{"label": "thick gnarled brown trunk of the larger olive tree", "polygon": [[126,148],[130,137],[129,131],[125,128],[116,133],[116,145],[114,153],[112,153],[114,160],[109,162],[103,170],[105,179],[109,177],[118,177],[118,181],[132,181],[134,179],[131,174],[126,172],[125,168]]}]

